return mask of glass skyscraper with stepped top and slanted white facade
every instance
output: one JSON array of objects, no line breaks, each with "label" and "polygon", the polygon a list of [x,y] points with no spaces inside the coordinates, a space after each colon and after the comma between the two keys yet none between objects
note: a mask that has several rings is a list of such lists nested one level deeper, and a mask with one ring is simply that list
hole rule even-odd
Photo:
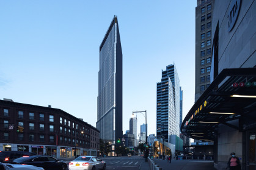
[{"label": "glass skyscraper with stepped top and slanted white facade", "polygon": [[170,143],[170,135],[180,136],[180,79],[175,65],[162,70],[156,103],[156,136]]}]

